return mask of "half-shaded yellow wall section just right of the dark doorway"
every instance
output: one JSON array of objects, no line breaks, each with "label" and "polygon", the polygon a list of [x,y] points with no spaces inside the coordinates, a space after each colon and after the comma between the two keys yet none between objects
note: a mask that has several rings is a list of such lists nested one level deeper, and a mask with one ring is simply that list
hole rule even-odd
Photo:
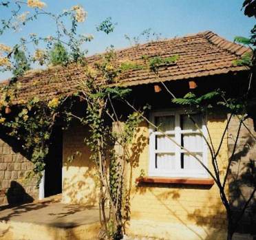
[{"label": "half-shaded yellow wall section just right of the dark doorway", "polygon": [[[84,139],[87,131],[83,126],[72,126],[63,134],[63,198],[65,204],[86,204],[95,206],[98,203],[96,169],[89,160],[89,149]],[[72,162],[67,157],[74,155]]]}]

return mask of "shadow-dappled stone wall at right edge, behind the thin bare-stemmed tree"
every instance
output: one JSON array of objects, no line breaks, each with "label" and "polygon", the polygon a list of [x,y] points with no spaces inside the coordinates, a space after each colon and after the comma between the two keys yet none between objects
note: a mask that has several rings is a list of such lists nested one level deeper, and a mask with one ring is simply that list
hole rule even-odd
[{"label": "shadow-dappled stone wall at right edge, behind the thin bare-stemmed tree", "polygon": [[[229,177],[230,200],[233,211],[236,214],[244,207],[246,200],[253,191],[253,182],[256,181],[256,136],[253,119],[248,118],[242,125],[239,132],[235,155],[231,164],[231,175]],[[228,127],[228,155],[231,157],[235,138],[239,127],[239,120],[236,116],[231,119]],[[250,132],[249,132],[249,131]],[[256,194],[239,223],[238,232],[256,234]]]}]

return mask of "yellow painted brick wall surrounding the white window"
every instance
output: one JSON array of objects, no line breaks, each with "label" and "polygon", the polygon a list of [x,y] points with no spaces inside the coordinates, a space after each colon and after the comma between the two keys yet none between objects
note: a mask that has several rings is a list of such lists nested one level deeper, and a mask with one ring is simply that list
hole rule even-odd
[{"label": "yellow painted brick wall surrounding the white window", "polygon": [[[226,124],[225,116],[209,116],[209,127],[215,147],[220,143]],[[139,127],[138,138],[149,137],[147,124]],[[220,168],[227,161],[227,138],[225,135],[220,151]],[[210,154],[209,154],[210,166]],[[214,184],[188,186],[182,184],[142,184],[135,179],[141,171],[149,169],[149,146],[142,150],[139,166],[134,168],[131,189],[131,221],[127,224],[129,234],[175,240],[222,240],[226,238],[226,215]]]}]

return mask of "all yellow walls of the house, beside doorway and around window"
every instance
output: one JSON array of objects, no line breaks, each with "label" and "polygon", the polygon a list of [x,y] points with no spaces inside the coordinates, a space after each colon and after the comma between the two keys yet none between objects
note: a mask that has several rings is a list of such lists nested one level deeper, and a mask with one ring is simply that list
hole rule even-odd
[{"label": "all yellow walls of the house, beside doorway and around window", "polygon": [[[209,127],[215,147],[220,143],[226,124],[226,116],[209,116]],[[64,134],[63,144],[63,202],[96,204],[96,179],[89,151],[83,143],[84,127],[71,127]],[[222,240],[226,238],[226,215],[214,184],[206,186],[147,184],[137,186],[135,179],[149,168],[148,125],[142,122],[131,146],[133,162],[131,180],[130,221],[127,233],[138,236],[174,240]],[[139,144],[137,144],[139,142]],[[81,157],[68,164],[65,159],[74,151]],[[210,154],[209,154],[210,156]],[[227,139],[224,137],[220,151],[220,168],[227,162]],[[210,157],[209,157],[210,161]],[[210,163],[209,163],[210,164]],[[129,169],[127,169],[129,176]]]}]

